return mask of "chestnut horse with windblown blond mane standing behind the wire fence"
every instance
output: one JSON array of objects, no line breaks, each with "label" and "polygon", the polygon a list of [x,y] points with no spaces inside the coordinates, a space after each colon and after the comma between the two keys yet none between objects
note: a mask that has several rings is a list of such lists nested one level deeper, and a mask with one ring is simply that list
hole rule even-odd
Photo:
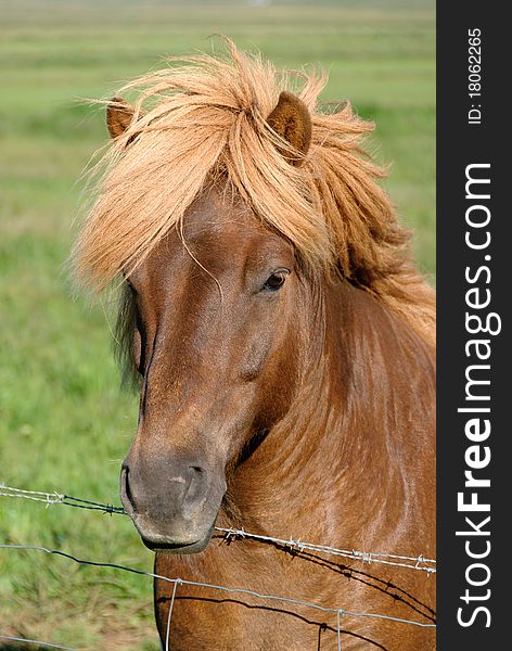
[{"label": "chestnut horse with windblown blond mane standing behind the wire fence", "polygon": [[227,40],[104,102],[73,259],[120,290],[140,390],[120,494],[165,649],[435,648],[393,620],[433,625],[433,575],[272,540],[435,558],[434,292],[373,125],[320,104],[325,82]]}]

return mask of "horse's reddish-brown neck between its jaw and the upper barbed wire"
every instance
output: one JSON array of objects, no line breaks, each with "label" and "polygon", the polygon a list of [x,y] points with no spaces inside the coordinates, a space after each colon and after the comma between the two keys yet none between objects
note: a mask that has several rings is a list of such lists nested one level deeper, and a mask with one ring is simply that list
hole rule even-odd
[{"label": "horse's reddish-brown neck between its jaw and the upper barbed wire", "polygon": [[[406,434],[411,413],[432,418],[432,352],[375,298],[348,283],[324,288],[320,303],[310,341],[304,342],[311,355],[302,388],[286,417],[239,469],[231,515],[247,531],[290,535],[298,520],[302,533],[309,522],[317,539],[329,537],[330,525],[342,525],[345,539],[369,539],[361,527],[372,512],[377,520],[383,496],[407,509],[414,490],[414,478],[406,482],[402,470],[423,444]],[[322,330],[320,345],[311,345]],[[342,523],[333,521],[333,510],[344,511]]]}]

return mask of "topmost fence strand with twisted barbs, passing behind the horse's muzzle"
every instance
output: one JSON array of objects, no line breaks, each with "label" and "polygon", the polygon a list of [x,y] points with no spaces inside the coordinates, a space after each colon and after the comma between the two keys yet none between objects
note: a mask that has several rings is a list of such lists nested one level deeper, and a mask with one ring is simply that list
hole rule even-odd
[{"label": "topmost fence strand with twisted barbs, passing behind the horse's muzzle", "polygon": [[[44,493],[41,490],[26,490],[0,484],[0,497],[29,499],[33,501],[43,502],[47,505],[47,507],[51,505],[64,505],[67,507],[75,507],[79,509],[101,511],[110,515],[127,515],[123,507],[116,507],[108,503],[103,505],[101,502],[81,499],[69,495],[60,494],[56,492]],[[216,526],[215,531],[222,534],[226,540],[249,538],[254,540],[260,540],[263,542],[271,542],[273,545],[279,545],[284,548],[294,549],[298,552],[315,551],[318,553],[325,553],[355,561],[361,561],[369,564],[381,563],[383,565],[392,565],[395,567],[407,567],[409,570],[418,570],[421,572],[426,572],[427,575],[436,573],[436,569],[432,566],[436,564],[435,559],[427,559],[423,554],[412,557],[385,552],[358,551],[355,549],[338,549],[336,547],[331,547],[328,545],[316,545],[312,542],[305,542],[302,541],[300,538],[291,537],[290,539],[285,539],[276,538],[272,536],[265,536],[263,534],[253,534],[251,532],[246,532],[243,528],[226,528]]]}]

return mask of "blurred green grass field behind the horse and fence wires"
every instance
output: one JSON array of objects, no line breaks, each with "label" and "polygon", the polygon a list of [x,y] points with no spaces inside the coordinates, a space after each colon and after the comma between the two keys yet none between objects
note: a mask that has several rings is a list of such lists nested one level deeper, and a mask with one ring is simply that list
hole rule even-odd
[{"label": "blurred green grass field behind the horse and fence wires", "polygon": [[[63,263],[76,181],[106,139],[104,116],[81,100],[111,97],[166,54],[209,51],[222,33],[278,67],[328,68],[323,99],[349,99],[376,123],[372,149],[393,163],[385,186],[434,277],[432,0],[0,0],[0,483],[118,500],[137,398],[119,390],[108,306],[73,299]],[[0,498],[0,541],[152,569],[120,516]],[[1,634],[155,650],[151,580],[0,550]]]}]

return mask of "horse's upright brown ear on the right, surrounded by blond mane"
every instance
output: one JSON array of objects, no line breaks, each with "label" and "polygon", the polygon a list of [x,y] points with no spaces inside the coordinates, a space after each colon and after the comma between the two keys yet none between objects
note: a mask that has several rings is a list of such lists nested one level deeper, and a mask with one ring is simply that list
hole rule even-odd
[{"label": "horse's upright brown ear on the right, surrounded by blond mane", "polygon": [[[311,116],[306,104],[292,92],[283,90],[276,108],[267,118],[267,124],[284,140],[306,155],[311,142]],[[293,158],[283,152],[292,165],[300,165],[302,158]]]}]

